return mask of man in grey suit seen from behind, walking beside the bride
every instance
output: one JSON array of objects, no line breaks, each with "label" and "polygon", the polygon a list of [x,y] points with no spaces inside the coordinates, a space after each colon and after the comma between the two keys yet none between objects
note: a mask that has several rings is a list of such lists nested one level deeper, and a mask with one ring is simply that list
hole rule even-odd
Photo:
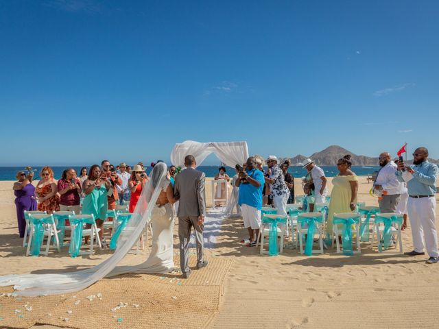
[{"label": "man in grey suit seen from behind, walking beside the bride", "polygon": [[189,240],[191,239],[192,226],[195,230],[197,241],[197,268],[207,266],[203,258],[203,228],[204,215],[206,215],[206,202],[204,202],[204,180],[202,171],[195,169],[195,158],[185,157],[185,167],[176,175],[174,195],[179,199],[178,204],[178,237],[180,238],[180,267],[183,278],[191,275],[189,269]]}]

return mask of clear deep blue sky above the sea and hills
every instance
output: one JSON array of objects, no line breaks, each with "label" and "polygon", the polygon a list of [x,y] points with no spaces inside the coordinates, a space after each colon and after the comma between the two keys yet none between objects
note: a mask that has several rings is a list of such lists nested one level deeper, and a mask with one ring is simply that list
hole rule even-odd
[{"label": "clear deep blue sky above the sea and hills", "polygon": [[[175,143],[439,158],[438,1],[0,0],[0,165]],[[209,158],[215,162],[213,158]]]}]

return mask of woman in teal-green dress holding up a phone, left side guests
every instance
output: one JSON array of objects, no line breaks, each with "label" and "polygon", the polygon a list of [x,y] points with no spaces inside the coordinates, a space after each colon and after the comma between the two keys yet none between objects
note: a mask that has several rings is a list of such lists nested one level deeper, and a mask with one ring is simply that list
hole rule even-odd
[{"label": "woman in teal-green dress holding up a phone, left side guests", "polygon": [[[102,224],[105,221],[108,210],[107,194],[111,188],[111,182],[107,176],[101,172],[98,164],[93,164],[88,171],[88,179],[84,182],[82,190],[85,197],[82,201],[82,213],[93,215],[99,230],[99,239],[102,241]],[[91,226],[88,225],[88,228]]]}]

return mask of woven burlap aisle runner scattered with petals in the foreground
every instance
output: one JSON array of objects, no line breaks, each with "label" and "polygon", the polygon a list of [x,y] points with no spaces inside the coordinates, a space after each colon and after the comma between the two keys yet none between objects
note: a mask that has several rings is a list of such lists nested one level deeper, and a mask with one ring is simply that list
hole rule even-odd
[{"label": "woven burlap aisle runner scattered with petals in the foreground", "polygon": [[[195,266],[195,255],[189,258]],[[176,259],[176,264],[178,264]],[[204,328],[219,309],[232,260],[166,275],[129,274],[100,280],[84,291],[45,297],[0,297],[0,328],[50,324],[67,328]],[[0,287],[12,293],[12,287]]]}]

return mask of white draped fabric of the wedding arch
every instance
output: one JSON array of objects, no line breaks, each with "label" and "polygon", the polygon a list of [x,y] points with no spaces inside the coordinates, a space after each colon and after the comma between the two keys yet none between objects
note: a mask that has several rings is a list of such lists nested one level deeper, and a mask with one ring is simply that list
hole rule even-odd
[{"label": "white draped fabric of the wedding arch", "polygon": [[[235,168],[237,164],[244,164],[248,158],[247,142],[209,142],[198,143],[185,141],[176,144],[171,153],[171,162],[174,166],[185,166],[185,156],[191,154],[199,166],[209,154],[215,154],[228,167]],[[226,204],[226,214],[233,210],[237,203],[237,193],[233,193]]]}]

